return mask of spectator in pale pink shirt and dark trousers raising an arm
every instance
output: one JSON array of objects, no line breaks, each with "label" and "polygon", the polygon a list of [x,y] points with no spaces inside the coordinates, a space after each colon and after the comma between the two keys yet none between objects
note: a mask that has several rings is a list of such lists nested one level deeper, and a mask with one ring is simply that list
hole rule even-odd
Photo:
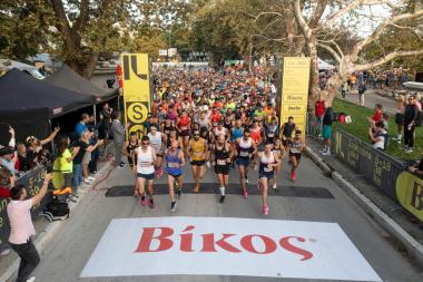
[{"label": "spectator in pale pink shirt and dark trousers raising an arm", "polygon": [[31,220],[31,207],[38,205],[45,197],[50,179],[51,175],[46,174],[40,192],[28,200],[27,189],[23,185],[17,185],[10,189],[11,201],[7,207],[11,230],[9,244],[21,259],[17,282],[36,281],[35,276],[29,278],[40,263],[40,256],[31,240],[31,236],[36,235]]}]

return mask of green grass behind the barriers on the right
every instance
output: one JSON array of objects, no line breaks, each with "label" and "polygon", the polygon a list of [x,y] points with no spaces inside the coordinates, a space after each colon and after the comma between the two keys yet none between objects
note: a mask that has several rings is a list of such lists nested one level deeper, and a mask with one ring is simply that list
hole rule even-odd
[{"label": "green grass behind the barriers on the right", "polygon": [[[335,98],[333,100],[333,108],[335,113],[343,111],[350,115],[353,119],[351,124],[338,125],[341,129],[344,129],[345,132],[361,138],[363,142],[370,143],[367,117],[373,116],[373,109],[361,107],[341,98]],[[388,133],[390,143],[385,152],[387,155],[401,159],[420,159],[422,157],[423,138],[421,136],[423,136],[423,127],[416,127],[414,152],[411,154],[406,154],[404,149],[402,149],[403,144],[397,144],[396,140],[392,140],[392,137],[396,137],[396,124],[393,116],[390,116],[388,119]]]}]

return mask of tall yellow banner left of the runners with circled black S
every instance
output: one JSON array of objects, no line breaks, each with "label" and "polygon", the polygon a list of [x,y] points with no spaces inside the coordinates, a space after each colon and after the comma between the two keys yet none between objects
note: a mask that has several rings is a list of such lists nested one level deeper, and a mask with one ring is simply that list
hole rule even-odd
[{"label": "tall yellow banner left of the runners with circled black S", "polygon": [[148,54],[124,54],[122,66],[125,123],[129,123],[130,133],[144,134],[144,121],[151,106],[150,64]]}]

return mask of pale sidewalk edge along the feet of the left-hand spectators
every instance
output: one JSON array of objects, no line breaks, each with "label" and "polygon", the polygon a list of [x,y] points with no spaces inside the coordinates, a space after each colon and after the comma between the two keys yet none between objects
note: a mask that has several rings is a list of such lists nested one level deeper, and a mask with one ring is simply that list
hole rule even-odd
[{"label": "pale sidewalk edge along the feet of the left-hand spectators", "polygon": [[[98,174],[99,176],[105,175],[105,173],[111,167],[111,162],[107,162],[104,167],[101,167],[100,173]],[[112,169],[112,168],[111,168]],[[92,185],[89,187],[91,189]],[[69,210],[70,212],[78,206],[80,201],[86,196],[85,194],[81,194],[79,197],[79,201],[75,204],[70,203],[69,204]],[[50,240],[57,234],[57,232],[60,230],[60,227],[66,223],[67,221],[57,221],[50,223],[43,231],[39,232],[39,235],[37,239],[33,241],[33,244],[36,245],[40,256],[43,255],[43,251],[46,250],[48,243]],[[18,272],[19,269],[19,262],[20,259],[18,257],[17,260],[13,261],[13,263],[7,269],[4,273],[0,276],[1,282],[8,282],[10,281],[14,274]]]}]

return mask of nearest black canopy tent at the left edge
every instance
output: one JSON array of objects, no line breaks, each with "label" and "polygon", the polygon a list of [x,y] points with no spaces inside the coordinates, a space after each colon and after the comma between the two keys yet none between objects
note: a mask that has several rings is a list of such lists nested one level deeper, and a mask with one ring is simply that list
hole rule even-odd
[{"label": "nearest black canopy tent at the left edge", "polygon": [[47,136],[50,120],[94,104],[94,97],[46,84],[18,69],[0,77],[0,144],[9,142],[7,128],[17,130],[17,139],[29,135]]}]

